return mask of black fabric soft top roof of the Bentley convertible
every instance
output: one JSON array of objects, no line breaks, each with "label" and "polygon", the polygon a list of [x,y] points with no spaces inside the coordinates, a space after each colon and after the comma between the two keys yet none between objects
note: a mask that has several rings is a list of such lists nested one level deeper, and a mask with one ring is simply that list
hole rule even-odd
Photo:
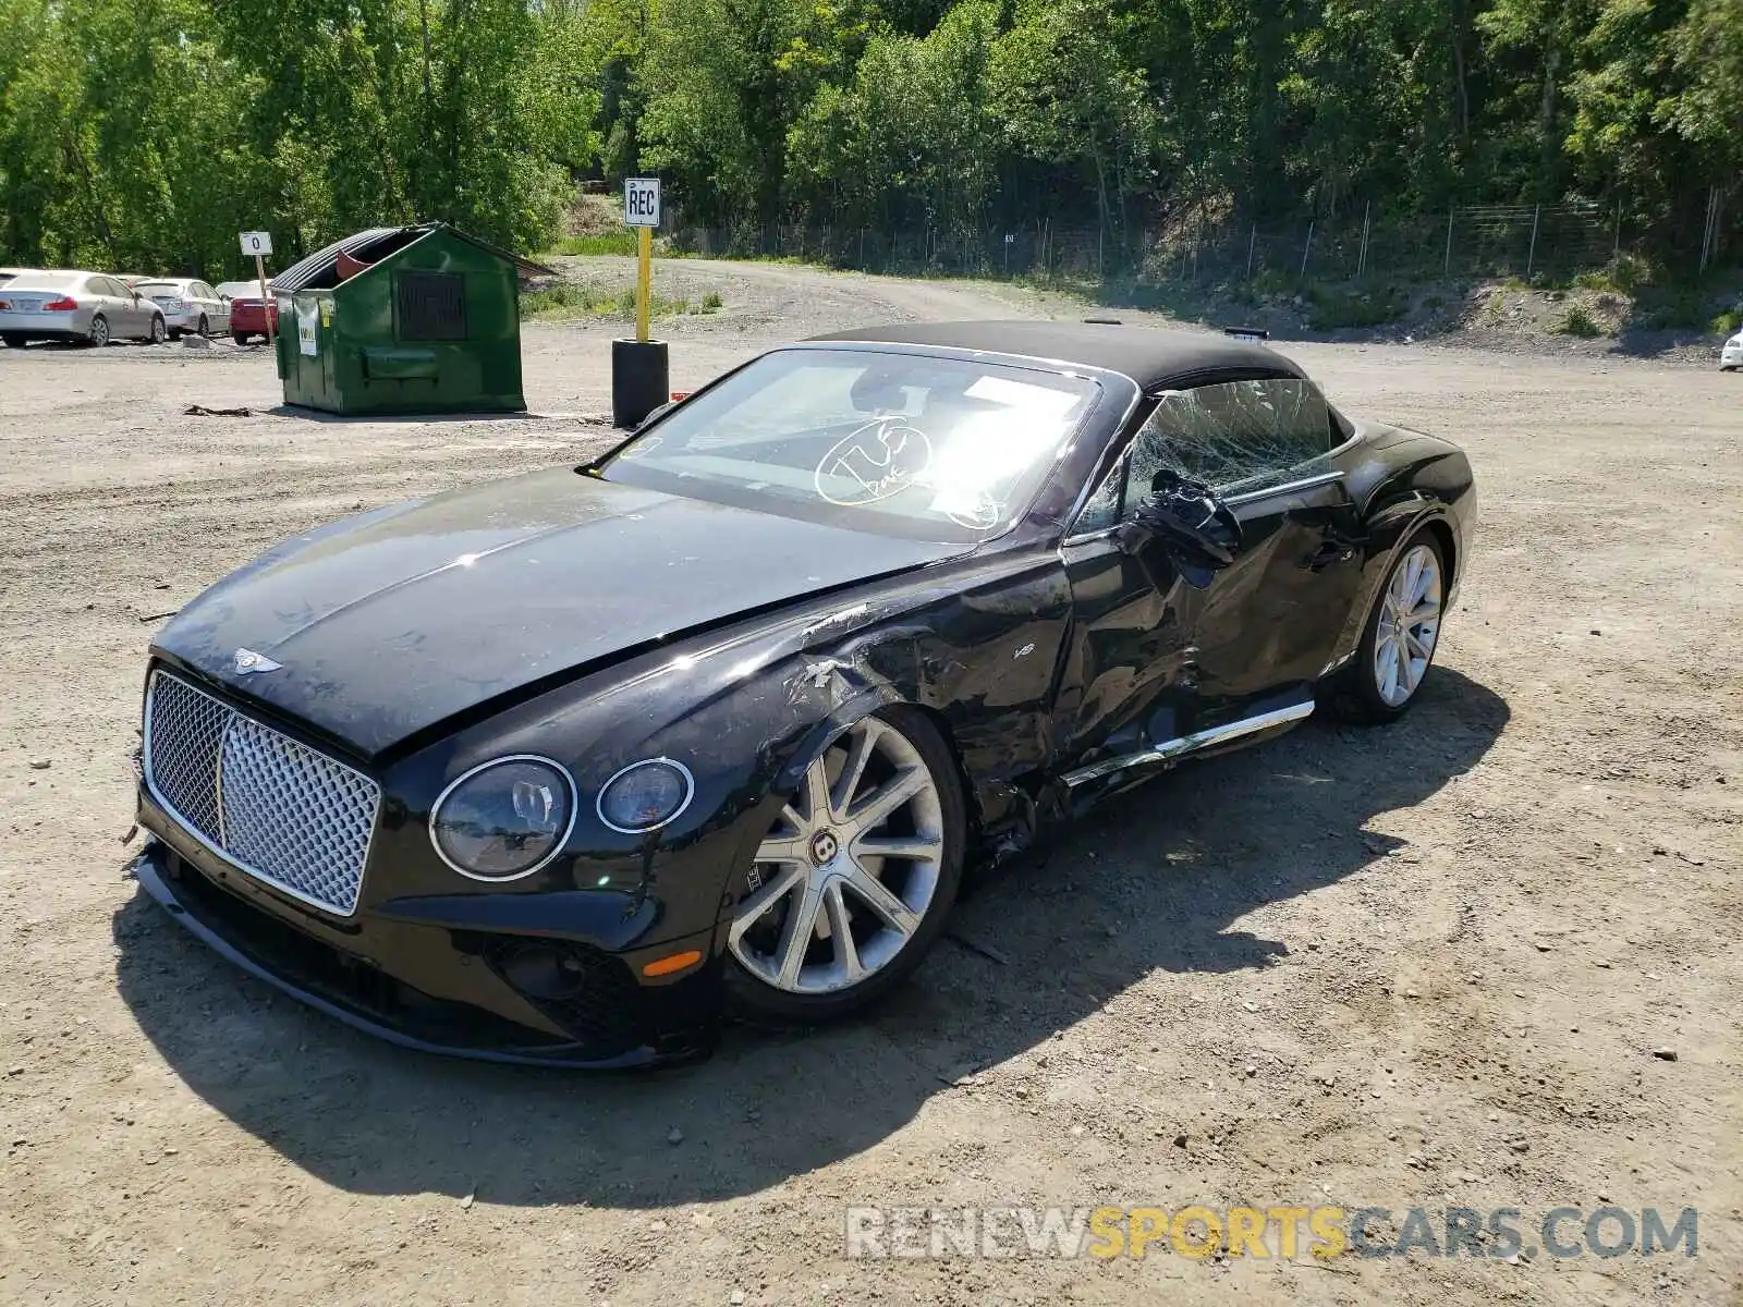
[{"label": "black fabric soft top roof of the Bentley convertible", "polygon": [[1177,385],[1187,378],[1225,373],[1306,376],[1281,354],[1264,345],[1231,340],[1210,331],[1154,331],[1105,322],[901,322],[838,331],[814,340],[863,340],[889,345],[936,345],[939,349],[1016,354],[1030,359],[1077,362],[1129,376],[1145,390]]}]

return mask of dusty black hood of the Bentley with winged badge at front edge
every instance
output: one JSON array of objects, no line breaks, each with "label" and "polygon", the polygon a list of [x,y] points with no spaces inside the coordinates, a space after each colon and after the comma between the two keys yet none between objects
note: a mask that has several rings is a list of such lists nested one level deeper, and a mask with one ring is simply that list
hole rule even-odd
[{"label": "dusty black hood of the Bentley with winged badge at front edge", "polygon": [[[565,467],[288,540],[187,605],[157,652],[371,756],[518,690],[962,552]],[[239,650],[279,666],[242,671]]]}]

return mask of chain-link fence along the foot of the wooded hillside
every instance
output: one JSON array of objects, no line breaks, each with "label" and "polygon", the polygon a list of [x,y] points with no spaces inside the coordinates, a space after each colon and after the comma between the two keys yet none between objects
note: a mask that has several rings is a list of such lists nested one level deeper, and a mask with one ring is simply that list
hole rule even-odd
[{"label": "chain-link fence along the foot of the wooded hillside", "polygon": [[[1710,206],[1712,207],[1712,206]],[[1724,221],[1705,225],[1705,268],[1734,240]],[[1168,230],[1030,227],[964,232],[926,227],[770,225],[688,227],[682,213],[675,253],[720,258],[797,258],[865,272],[966,277],[1039,277],[1217,286],[1255,281],[1360,282],[1543,275],[1565,279],[1635,251],[1619,209],[1595,204],[1468,206],[1445,213],[1380,214],[1368,207],[1337,220],[1295,223],[1190,221]],[[1673,251],[1694,263],[1692,251]],[[1692,267],[1689,270],[1694,270]]]}]

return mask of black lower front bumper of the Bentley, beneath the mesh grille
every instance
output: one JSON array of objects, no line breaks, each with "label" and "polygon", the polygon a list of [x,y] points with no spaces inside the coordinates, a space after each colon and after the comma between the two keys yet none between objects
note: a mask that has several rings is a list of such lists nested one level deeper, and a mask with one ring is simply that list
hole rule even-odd
[{"label": "black lower front bumper of the Bentley, beneath the mesh grille", "polygon": [[[195,861],[199,859],[199,861]],[[132,873],[183,927],[254,978],[401,1047],[540,1067],[614,1070],[695,1061],[718,1035],[720,957],[664,983],[638,983],[636,958],[579,939],[359,917],[345,927],[258,906],[241,873],[150,838]],[[673,945],[662,948],[669,951]],[[572,964],[563,992],[539,997],[511,976],[526,951]]]}]

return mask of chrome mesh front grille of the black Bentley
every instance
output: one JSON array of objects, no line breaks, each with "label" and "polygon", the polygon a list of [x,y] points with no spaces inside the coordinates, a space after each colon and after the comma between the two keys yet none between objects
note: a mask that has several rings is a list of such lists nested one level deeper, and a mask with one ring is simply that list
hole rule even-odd
[{"label": "chrome mesh front grille of the black Bentley", "polygon": [[171,816],[256,880],[356,911],[375,781],[162,671],[145,718],[145,781]]}]

